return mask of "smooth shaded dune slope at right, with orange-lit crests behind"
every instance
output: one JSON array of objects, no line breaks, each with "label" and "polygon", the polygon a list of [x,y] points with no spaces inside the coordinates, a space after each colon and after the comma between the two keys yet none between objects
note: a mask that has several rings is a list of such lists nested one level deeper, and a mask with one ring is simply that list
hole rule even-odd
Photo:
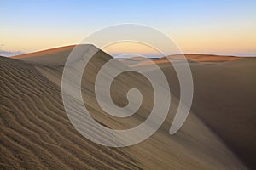
[{"label": "smooth shaded dune slope at right, with orange-lit crests behind", "polygon": [[[196,59],[186,55],[186,58],[195,86],[192,111],[218,133],[241,160],[255,168],[256,58],[214,56],[207,59],[207,55],[197,55]],[[178,97],[179,84],[172,65],[165,58],[154,62],[166,72],[172,94]],[[146,62],[132,66],[151,71]]]}]

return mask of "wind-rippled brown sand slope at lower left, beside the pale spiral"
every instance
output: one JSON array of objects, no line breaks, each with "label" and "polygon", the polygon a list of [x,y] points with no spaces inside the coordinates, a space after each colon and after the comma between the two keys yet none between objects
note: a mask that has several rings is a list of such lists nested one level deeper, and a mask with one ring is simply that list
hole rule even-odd
[{"label": "wind-rippled brown sand slope at lower left, beside the pale spiral", "polygon": [[124,151],[79,135],[64,113],[61,89],[32,65],[1,58],[1,79],[3,169],[140,169]]}]

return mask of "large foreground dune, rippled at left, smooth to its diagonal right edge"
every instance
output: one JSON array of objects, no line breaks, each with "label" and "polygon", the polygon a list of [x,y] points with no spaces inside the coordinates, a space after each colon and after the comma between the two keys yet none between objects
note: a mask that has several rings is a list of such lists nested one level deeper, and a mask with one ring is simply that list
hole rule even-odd
[{"label": "large foreground dune, rippled at left, smooth to its diagonal right edge", "polygon": [[[61,99],[61,74],[71,49],[0,58],[2,169],[247,169],[192,111],[181,130],[169,135],[178,104],[174,95],[166,122],[140,144],[108,148],[85,139],[68,121]],[[111,88],[113,101],[124,106],[130,88],[141,89],[145,100],[134,116],[117,119],[107,115],[96,102],[94,82],[109,59],[112,57],[99,51],[85,68],[84,102],[97,122],[111,128],[134,127],[150,113],[152,87],[134,72],[120,75]],[[119,61],[113,66],[127,67]],[[166,76],[172,73],[166,72]],[[91,133],[104,136],[94,128]]]}]

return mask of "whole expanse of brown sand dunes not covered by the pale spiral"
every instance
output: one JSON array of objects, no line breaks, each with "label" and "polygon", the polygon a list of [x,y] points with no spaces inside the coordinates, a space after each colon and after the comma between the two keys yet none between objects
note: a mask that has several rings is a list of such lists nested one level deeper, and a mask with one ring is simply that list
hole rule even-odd
[{"label": "whole expanse of brown sand dunes not covered by the pale spiral", "polygon": [[[190,63],[195,101],[183,127],[172,136],[168,131],[177,111],[179,87],[172,65],[156,60],[172,83],[171,110],[166,122],[140,144],[109,148],[81,136],[65,113],[61,76],[73,47],[0,57],[1,169],[215,170],[255,166],[255,59],[231,59],[212,65],[202,65],[198,60]],[[84,102],[97,122],[111,128],[134,127],[150,113],[154,101],[152,87],[134,72],[120,75],[113,82],[113,101],[125,105],[127,90],[139,88],[143,104],[134,116],[122,120],[107,115],[96,102],[94,83],[97,72],[109,59],[112,57],[102,51],[90,59],[82,80]],[[129,66],[118,60],[114,65]],[[133,66],[143,69],[150,65]],[[92,133],[96,133],[93,128]]]}]

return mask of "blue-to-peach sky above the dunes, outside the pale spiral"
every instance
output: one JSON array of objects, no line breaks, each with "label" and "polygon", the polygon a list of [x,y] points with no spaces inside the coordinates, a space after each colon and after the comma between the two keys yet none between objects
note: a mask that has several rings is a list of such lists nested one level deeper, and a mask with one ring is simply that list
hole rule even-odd
[{"label": "blue-to-peach sky above the dunes, outside the pale spiral", "polygon": [[256,56],[255,0],[1,0],[0,55],[78,44],[122,23],[152,26],[185,54]]}]

